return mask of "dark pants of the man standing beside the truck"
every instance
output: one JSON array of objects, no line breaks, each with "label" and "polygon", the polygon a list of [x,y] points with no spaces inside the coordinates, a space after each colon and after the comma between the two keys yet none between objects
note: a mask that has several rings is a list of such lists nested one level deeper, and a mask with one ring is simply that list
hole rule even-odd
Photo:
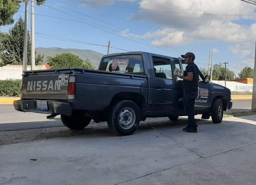
[{"label": "dark pants of the man standing beside the truck", "polygon": [[195,121],[195,114],[194,114],[194,108],[195,108],[195,98],[197,96],[197,93],[184,93],[184,104],[185,104],[185,110],[189,117],[189,127],[197,127],[196,121]]}]

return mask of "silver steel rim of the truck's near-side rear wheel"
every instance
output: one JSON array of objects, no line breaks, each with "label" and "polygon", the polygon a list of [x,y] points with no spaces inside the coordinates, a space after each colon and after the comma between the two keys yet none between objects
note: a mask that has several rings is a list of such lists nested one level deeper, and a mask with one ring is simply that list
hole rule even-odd
[{"label": "silver steel rim of the truck's near-side rear wheel", "polygon": [[118,123],[122,129],[128,130],[134,126],[136,120],[135,111],[131,108],[123,108],[118,116]]}]

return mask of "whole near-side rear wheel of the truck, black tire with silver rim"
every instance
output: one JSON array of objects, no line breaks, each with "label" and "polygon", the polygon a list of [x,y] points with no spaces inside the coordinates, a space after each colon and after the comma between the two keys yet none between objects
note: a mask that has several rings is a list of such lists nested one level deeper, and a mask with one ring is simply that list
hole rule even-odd
[{"label": "whole near-side rear wheel of the truck, black tire with silver rim", "polygon": [[134,133],[140,123],[140,109],[130,100],[122,100],[112,106],[108,116],[109,129],[118,136]]}]

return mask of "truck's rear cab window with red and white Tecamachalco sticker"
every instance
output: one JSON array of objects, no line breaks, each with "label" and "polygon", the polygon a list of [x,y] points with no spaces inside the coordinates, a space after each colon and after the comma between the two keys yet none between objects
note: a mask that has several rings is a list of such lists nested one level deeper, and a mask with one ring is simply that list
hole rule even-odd
[{"label": "truck's rear cab window with red and white Tecamachalco sticker", "polygon": [[104,58],[99,67],[100,71],[117,73],[144,73],[141,55],[124,55]]}]

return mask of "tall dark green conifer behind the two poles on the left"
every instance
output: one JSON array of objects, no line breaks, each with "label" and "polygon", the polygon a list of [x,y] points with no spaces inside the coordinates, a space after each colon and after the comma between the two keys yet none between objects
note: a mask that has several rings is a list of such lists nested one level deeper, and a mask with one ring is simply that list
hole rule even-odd
[{"label": "tall dark green conifer behind the two poles on the left", "polygon": [[[23,64],[23,48],[24,48],[24,26],[25,22],[20,17],[13,28],[10,29],[7,34],[0,34],[1,46],[3,51],[3,56],[1,57],[3,65],[13,64],[22,65]],[[36,54],[36,51],[35,51]],[[41,64],[43,57],[38,55],[35,57],[35,65]],[[28,32],[28,61],[27,64],[30,65],[31,60],[31,40],[30,34]]]}]

